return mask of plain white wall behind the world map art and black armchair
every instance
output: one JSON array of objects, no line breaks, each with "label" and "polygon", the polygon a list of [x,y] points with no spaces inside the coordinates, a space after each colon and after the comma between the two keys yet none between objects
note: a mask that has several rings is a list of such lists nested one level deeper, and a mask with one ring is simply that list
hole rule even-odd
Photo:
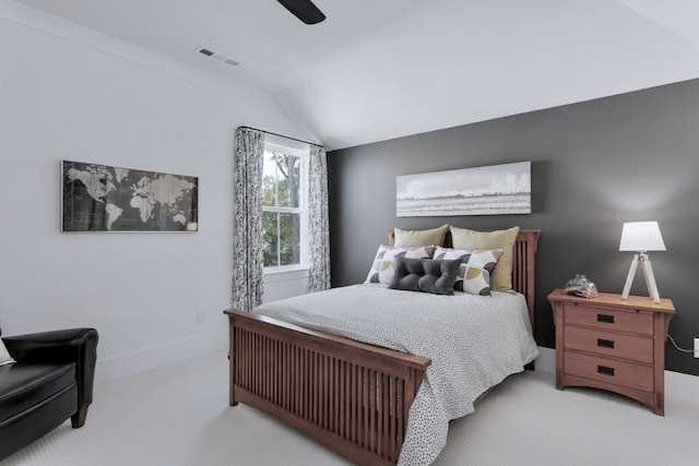
[{"label": "plain white wall behind the world map art and black armchair", "polygon": [[[225,347],[235,128],[305,134],[266,94],[14,2],[0,44],[3,334],[94,326],[98,382]],[[61,234],[61,159],[198,176],[200,231]]]}]

